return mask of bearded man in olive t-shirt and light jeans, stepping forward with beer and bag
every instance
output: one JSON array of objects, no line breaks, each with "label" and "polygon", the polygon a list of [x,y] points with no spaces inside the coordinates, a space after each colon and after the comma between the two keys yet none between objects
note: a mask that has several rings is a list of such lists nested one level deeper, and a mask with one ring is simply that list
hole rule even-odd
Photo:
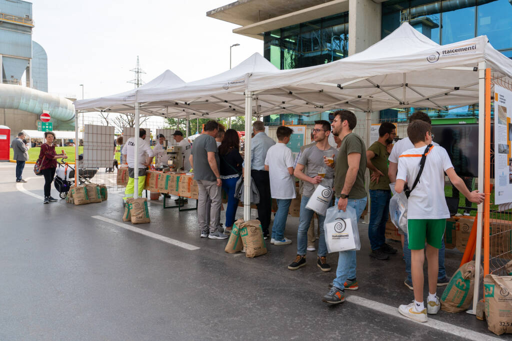
[{"label": "bearded man in olive t-shirt and light jeans, stepping forward with beer and bag", "polygon": [[[332,121],[332,133],[342,140],[339,146],[338,156],[334,163],[334,195],[338,210],[346,211],[347,206],[356,212],[357,226],[362,211],[366,207],[367,197],[365,191],[366,171],[366,146],[362,139],[352,132],[357,124],[357,119],[352,111],[338,110],[334,112]],[[327,160],[325,164],[329,167]],[[344,290],[357,290],[359,288],[355,274],[355,251],[342,251],[338,255],[338,267],[336,278],[331,290],[323,297],[322,301],[330,304],[345,301]]]}]

